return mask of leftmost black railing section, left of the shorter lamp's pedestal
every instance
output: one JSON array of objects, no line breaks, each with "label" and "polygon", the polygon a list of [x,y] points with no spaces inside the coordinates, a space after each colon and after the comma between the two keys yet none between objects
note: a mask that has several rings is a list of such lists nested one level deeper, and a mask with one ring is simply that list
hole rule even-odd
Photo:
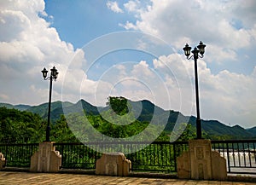
[{"label": "leftmost black railing section, left of the shorter lamp's pedestal", "polygon": [[0,144],[0,152],[9,167],[29,167],[31,156],[38,151],[39,144]]}]

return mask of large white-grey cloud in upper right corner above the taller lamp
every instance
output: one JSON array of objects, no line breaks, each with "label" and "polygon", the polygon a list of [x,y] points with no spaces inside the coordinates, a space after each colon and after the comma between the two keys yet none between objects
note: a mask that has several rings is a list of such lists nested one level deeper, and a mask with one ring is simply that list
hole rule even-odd
[{"label": "large white-grey cloud in upper right corner above the taller lamp", "polygon": [[[126,4],[127,9],[135,9],[135,3]],[[243,4],[243,6],[240,6]],[[255,43],[256,3],[252,1],[156,1],[145,9],[136,3],[137,21],[126,21],[125,29],[134,29],[154,34],[168,43],[181,48],[179,40],[187,42],[200,40],[215,45],[219,50],[238,51]],[[130,8],[128,8],[130,7]],[[249,16],[246,16],[245,12]],[[244,27],[234,24],[241,22]],[[250,24],[247,24],[250,22]],[[183,44],[185,41],[183,42]],[[209,55],[209,58],[212,58]],[[216,60],[223,61],[221,58]]]}]

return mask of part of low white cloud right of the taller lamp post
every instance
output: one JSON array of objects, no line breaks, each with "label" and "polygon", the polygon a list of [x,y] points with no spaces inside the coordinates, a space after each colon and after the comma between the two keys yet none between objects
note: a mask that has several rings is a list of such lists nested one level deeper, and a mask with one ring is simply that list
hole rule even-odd
[{"label": "part of low white cloud right of the taller lamp post", "polygon": [[[252,127],[255,120],[256,78],[224,70],[217,75],[201,69],[201,107],[208,119]],[[211,110],[211,111],[207,111]]]}]

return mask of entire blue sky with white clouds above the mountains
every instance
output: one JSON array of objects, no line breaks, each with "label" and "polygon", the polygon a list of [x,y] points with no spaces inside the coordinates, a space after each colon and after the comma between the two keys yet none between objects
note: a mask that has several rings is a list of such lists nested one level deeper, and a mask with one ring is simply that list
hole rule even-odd
[{"label": "entire blue sky with white clouds above the mountains", "polygon": [[256,125],[256,1],[0,1],[0,102],[48,101],[41,70],[55,66],[53,101],[104,106],[108,95],[148,99],[202,119]]}]

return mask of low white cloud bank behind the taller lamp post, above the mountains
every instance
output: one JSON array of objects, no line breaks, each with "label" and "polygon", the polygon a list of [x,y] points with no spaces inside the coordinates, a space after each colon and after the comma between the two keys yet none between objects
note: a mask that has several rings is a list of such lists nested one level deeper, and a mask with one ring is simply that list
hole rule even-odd
[{"label": "low white cloud bank behind the taller lamp post, above the mountains", "polygon": [[[172,109],[181,110],[186,115],[191,113],[195,115],[194,61],[188,61],[182,55],[173,54],[162,55],[153,63],[159,73],[166,74],[165,83],[171,94]],[[172,71],[172,75],[171,72],[166,72],[166,68]],[[201,118],[218,119],[225,124],[253,127],[256,115],[255,71],[254,67],[253,73],[249,75],[227,70],[212,74],[206,61],[199,60]],[[191,90],[193,90],[192,94]],[[179,93],[184,104],[181,108],[180,102],[177,101]],[[192,105],[191,112],[189,108]]]}]

